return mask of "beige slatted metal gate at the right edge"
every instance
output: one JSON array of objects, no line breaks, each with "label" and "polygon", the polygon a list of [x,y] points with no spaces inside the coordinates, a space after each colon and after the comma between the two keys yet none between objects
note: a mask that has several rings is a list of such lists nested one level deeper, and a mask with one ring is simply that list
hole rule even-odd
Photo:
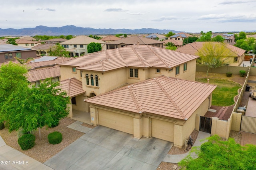
[{"label": "beige slatted metal gate at the right edge", "polygon": [[256,134],[256,117],[242,116],[240,130]]}]

